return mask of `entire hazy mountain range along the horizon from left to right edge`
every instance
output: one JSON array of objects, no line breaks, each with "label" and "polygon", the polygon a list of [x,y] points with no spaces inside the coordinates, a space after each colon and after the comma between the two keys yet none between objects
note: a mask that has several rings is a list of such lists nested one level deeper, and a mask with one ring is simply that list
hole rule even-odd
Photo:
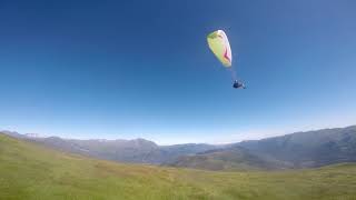
[{"label": "entire hazy mountain range along the horizon from left to right edge", "polygon": [[75,140],[2,132],[57,150],[99,159],[206,170],[300,169],[356,161],[356,126],[296,132],[225,146],[158,146],[145,139]]}]

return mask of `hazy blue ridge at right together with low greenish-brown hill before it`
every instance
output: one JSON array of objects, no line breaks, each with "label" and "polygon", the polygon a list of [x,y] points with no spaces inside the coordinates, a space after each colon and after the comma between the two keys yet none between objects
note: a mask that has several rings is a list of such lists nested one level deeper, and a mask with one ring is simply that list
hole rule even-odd
[{"label": "hazy blue ridge at right together with low greenish-brown hill before it", "polygon": [[243,141],[166,163],[208,170],[299,169],[356,161],[356,126]]}]

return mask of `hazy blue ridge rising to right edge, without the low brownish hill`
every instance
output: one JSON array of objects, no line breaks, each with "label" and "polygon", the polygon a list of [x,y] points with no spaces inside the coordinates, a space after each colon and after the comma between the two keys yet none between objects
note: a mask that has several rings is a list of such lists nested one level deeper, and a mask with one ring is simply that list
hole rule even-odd
[{"label": "hazy blue ridge rising to right edge, without the low brownish hill", "polygon": [[296,132],[235,144],[253,152],[290,162],[295,168],[356,161],[356,126]]}]

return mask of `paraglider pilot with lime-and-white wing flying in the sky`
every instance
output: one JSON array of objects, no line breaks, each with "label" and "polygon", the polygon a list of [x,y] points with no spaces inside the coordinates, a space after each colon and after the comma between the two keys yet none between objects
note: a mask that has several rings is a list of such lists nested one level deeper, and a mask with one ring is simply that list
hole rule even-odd
[{"label": "paraglider pilot with lime-and-white wing flying in the sky", "polygon": [[216,58],[222,63],[225,68],[230,69],[233,78],[235,79],[233,87],[246,89],[245,84],[236,80],[236,74],[233,69],[233,53],[229,40],[222,30],[217,30],[208,34],[208,44]]}]

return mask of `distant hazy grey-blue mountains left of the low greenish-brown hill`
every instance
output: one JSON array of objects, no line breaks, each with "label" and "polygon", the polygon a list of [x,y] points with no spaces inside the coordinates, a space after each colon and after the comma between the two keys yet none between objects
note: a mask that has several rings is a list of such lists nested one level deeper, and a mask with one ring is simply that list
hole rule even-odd
[{"label": "distant hazy grey-blue mountains left of the low greenish-brown hill", "polygon": [[215,146],[205,143],[186,143],[176,146],[158,146],[145,139],[135,140],[78,140],[62,139],[59,137],[31,137],[33,134],[20,134],[18,132],[6,131],[8,136],[44,144],[47,147],[89,156],[92,158],[112,160],[127,163],[149,163],[160,164],[174,161],[181,156],[195,154],[216,149]]}]

